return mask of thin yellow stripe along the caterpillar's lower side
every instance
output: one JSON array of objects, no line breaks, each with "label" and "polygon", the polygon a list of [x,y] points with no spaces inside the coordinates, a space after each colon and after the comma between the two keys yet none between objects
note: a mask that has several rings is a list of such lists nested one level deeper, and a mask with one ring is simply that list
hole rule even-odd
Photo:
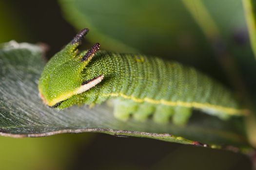
[{"label": "thin yellow stripe along the caterpillar's lower side", "polygon": [[122,97],[124,99],[130,99],[133,100],[134,102],[149,102],[152,104],[163,104],[163,105],[168,105],[168,106],[183,106],[183,107],[194,107],[197,109],[207,109],[207,108],[211,108],[211,109],[216,109],[219,111],[223,111],[226,114],[229,115],[237,115],[237,116],[241,116],[241,115],[248,115],[249,111],[248,110],[240,110],[240,109],[235,109],[232,107],[223,107],[223,106],[219,106],[219,105],[214,105],[214,104],[209,104],[209,103],[199,103],[199,102],[182,102],[182,101],[165,101],[165,100],[154,100],[154,99],[150,99],[150,98],[144,98],[144,99],[139,99],[136,98],[134,96],[127,96],[123,93],[109,93],[109,94],[102,94],[105,97]]}]

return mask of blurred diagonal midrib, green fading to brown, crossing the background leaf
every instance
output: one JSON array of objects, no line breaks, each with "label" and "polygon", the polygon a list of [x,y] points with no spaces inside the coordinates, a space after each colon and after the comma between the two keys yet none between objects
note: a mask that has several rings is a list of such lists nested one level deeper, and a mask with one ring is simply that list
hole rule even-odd
[{"label": "blurred diagonal midrib, green fading to brown, crossing the background leaf", "polygon": [[212,45],[215,56],[224,69],[229,82],[234,86],[240,98],[245,100],[244,102],[246,104],[249,99],[249,93],[246,90],[236,62],[227,50],[224,40],[221,38],[220,30],[214,18],[208,12],[202,0],[182,0],[182,2]]}]

